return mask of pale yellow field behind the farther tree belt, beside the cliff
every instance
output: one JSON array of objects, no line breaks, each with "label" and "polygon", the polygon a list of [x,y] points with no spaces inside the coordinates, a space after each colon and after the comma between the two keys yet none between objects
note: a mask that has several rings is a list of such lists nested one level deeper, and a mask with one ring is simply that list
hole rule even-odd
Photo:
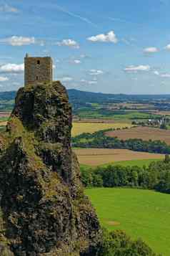
[{"label": "pale yellow field behind the farther tree belt, beside the cliff", "polygon": [[110,128],[131,128],[129,123],[73,123],[71,131],[72,136],[77,136],[81,133],[94,133],[95,131],[106,130]]}]

